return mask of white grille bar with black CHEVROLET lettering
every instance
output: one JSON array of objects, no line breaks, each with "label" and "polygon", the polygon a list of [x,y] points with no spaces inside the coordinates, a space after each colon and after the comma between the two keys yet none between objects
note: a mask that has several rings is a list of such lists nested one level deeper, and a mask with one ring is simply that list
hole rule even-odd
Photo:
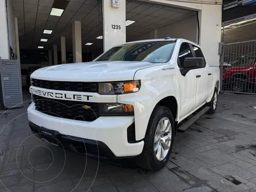
[{"label": "white grille bar with black CHEVROLET lettering", "polygon": [[61,93],[55,91],[44,91],[38,90],[34,87],[29,88],[29,92],[32,94],[36,94],[45,98],[52,99],[65,99],[65,100],[73,100],[73,101],[89,101],[92,98],[92,95],[83,95],[83,94],[73,94],[73,93]]}]

